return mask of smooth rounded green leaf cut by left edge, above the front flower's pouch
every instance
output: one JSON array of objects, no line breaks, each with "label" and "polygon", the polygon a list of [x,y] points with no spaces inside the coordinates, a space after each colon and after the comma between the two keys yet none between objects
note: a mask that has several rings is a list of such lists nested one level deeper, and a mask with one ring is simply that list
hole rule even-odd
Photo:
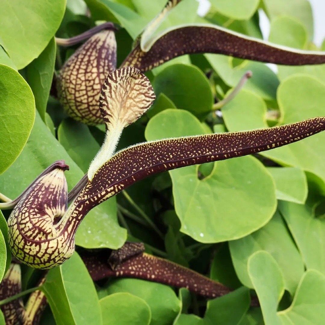
[{"label": "smooth rounded green leaf cut by left edge, above the front flower's pouch", "polygon": [[0,64],[0,107],[0,174],[2,174],[24,148],[35,118],[35,102],[31,88],[17,71],[2,64]]}]

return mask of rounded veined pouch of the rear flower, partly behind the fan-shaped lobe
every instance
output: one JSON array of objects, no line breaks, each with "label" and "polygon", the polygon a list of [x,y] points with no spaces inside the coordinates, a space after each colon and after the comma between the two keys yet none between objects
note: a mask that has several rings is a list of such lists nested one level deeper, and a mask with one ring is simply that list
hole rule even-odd
[{"label": "rounded veined pouch of the rear flower, partly behind the fan-shaped lobe", "polygon": [[111,28],[91,36],[72,54],[57,81],[59,100],[69,116],[90,125],[103,123],[99,94],[115,68],[116,40]]}]

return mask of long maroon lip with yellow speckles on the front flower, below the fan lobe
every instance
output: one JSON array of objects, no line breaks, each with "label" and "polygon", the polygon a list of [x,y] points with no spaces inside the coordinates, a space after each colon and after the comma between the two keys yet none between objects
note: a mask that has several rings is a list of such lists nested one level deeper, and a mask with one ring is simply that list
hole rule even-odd
[{"label": "long maroon lip with yellow speckles on the front flower, below the fan lobe", "polygon": [[267,129],[158,140],[124,149],[105,162],[79,193],[83,217],[99,203],[150,175],[285,146],[325,130],[325,117]]}]

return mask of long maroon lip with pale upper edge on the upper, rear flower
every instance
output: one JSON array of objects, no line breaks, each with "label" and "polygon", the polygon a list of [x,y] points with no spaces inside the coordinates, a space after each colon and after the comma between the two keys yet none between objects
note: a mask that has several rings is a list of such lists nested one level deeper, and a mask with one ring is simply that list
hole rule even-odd
[{"label": "long maroon lip with pale upper edge on the upper, rear flower", "polygon": [[[145,35],[145,32],[143,33]],[[324,52],[302,51],[261,41],[212,24],[174,27],[139,42],[122,66],[145,72],[183,54],[218,53],[284,65],[325,63]]]}]

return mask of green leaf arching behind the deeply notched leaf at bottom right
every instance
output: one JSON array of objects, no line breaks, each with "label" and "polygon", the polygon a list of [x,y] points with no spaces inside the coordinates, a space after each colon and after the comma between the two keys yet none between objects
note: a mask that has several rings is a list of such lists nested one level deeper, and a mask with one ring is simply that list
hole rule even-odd
[{"label": "green leaf arching behind the deeply notched leaf at bottom right", "polygon": [[254,252],[264,250],[277,261],[285,288],[294,294],[304,273],[304,263],[279,213],[251,235],[230,241],[229,247],[236,273],[246,287],[253,288],[247,270],[248,259]]}]

